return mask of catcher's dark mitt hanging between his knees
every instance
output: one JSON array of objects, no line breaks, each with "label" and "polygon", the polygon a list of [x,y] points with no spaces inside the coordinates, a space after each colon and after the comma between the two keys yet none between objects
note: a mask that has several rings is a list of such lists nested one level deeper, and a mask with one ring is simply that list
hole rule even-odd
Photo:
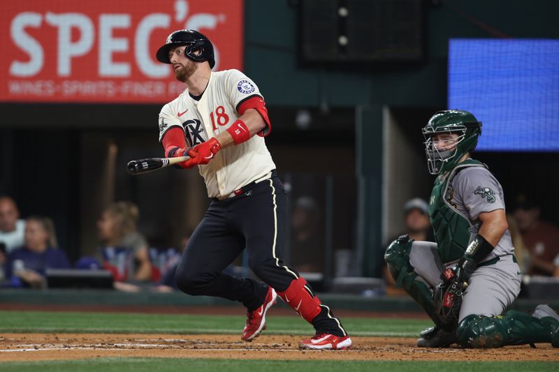
[{"label": "catcher's dark mitt hanging between his knees", "polygon": [[442,272],[442,283],[435,288],[433,298],[435,311],[439,314],[443,329],[448,331],[458,324],[464,290],[476,268],[477,265],[473,260],[462,258],[456,265]]}]

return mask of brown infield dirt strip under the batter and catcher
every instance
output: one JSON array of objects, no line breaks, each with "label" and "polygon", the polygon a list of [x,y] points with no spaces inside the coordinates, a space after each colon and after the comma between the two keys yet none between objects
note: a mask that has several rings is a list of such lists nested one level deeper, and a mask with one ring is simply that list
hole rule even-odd
[{"label": "brown infield dirt strip under the batter and catcher", "polygon": [[559,362],[559,349],[546,344],[535,349],[424,349],[415,347],[414,338],[352,337],[352,350],[301,351],[300,338],[262,335],[245,343],[232,335],[0,334],[0,362],[97,357]]}]

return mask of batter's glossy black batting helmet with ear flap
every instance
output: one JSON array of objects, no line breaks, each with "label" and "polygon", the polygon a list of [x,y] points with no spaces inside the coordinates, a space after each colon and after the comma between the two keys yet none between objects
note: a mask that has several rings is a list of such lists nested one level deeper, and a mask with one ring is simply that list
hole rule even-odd
[{"label": "batter's glossy black batting helmet with ear flap", "polygon": [[[210,68],[215,66],[214,47],[210,39],[196,30],[178,30],[167,36],[165,45],[157,50],[157,61],[170,64],[169,50],[173,47],[179,47],[180,45],[188,45],[184,50],[184,55],[189,57],[192,61],[208,61],[210,63]],[[194,53],[197,50],[200,51],[199,54]]]}]

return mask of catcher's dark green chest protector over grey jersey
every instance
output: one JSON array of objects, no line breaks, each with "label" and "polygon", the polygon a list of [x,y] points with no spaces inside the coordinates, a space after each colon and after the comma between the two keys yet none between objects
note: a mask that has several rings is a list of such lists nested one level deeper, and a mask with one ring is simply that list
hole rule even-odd
[{"label": "catcher's dark green chest protector over grey jersey", "polygon": [[456,165],[447,177],[437,177],[429,199],[429,219],[437,239],[437,251],[443,263],[460,259],[470,243],[472,223],[453,205],[449,185],[460,170],[467,167],[485,167],[484,163],[467,159]]}]

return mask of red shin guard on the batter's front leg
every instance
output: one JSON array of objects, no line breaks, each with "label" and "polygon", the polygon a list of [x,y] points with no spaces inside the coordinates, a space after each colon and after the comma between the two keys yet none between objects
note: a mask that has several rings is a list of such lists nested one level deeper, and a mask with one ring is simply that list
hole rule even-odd
[{"label": "red shin guard on the batter's front leg", "polygon": [[307,281],[300,277],[293,279],[283,292],[277,292],[286,304],[291,306],[303,319],[312,324],[314,317],[320,313],[320,300],[306,286]]}]

